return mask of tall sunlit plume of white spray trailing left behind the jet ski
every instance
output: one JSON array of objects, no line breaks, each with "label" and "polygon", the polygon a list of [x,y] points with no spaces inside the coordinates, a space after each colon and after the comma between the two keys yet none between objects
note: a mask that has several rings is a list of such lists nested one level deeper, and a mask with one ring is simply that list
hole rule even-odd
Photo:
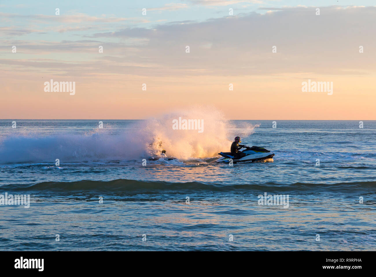
[{"label": "tall sunlit plume of white spray trailing left behind the jet ski", "polygon": [[[202,133],[195,130],[174,130],[175,118],[203,119]],[[113,129],[93,129],[82,135],[39,135],[25,133],[6,136],[0,142],[0,163],[60,163],[95,160],[140,159],[158,155],[161,149],[168,156],[181,160],[217,156],[220,151],[229,151],[236,135],[253,132],[251,124],[242,126],[242,132],[233,133],[235,126],[214,107],[195,107],[178,110],[158,118],[140,121],[136,129],[126,129],[114,134]],[[162,142],[161,144],[159,142]]]}]

